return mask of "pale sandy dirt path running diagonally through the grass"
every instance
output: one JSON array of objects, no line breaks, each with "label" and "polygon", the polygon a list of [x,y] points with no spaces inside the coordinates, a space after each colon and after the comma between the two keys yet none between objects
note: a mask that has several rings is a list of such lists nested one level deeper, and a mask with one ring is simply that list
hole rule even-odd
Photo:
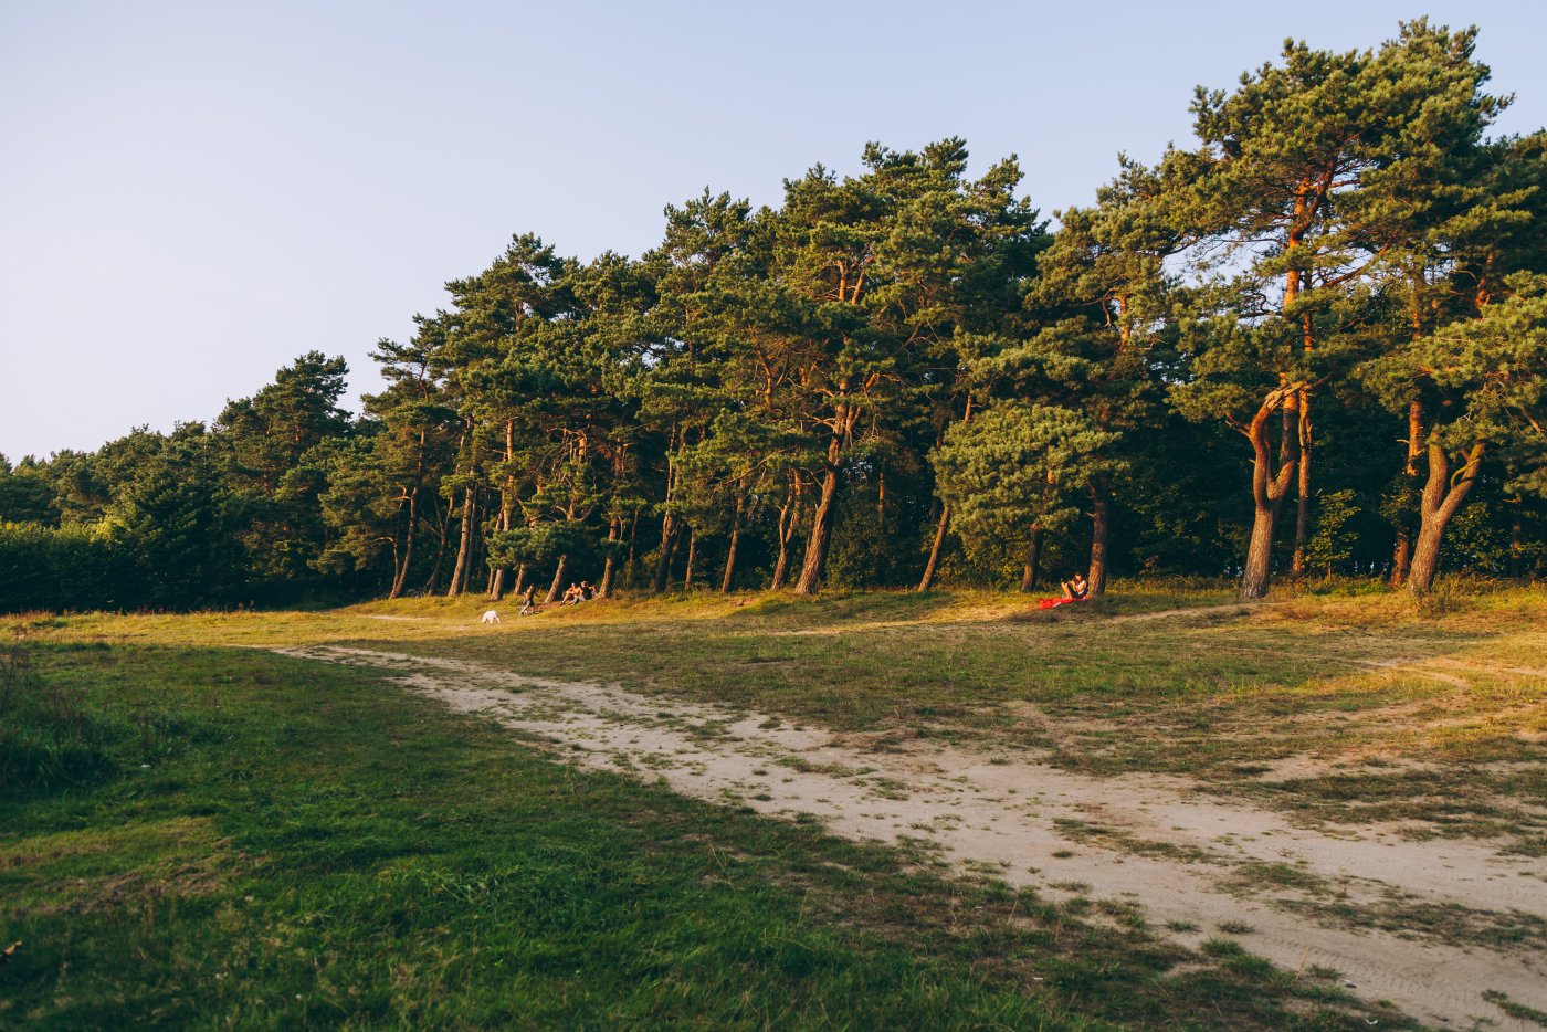
[{"label": "pale sandy dirt path running diagonally through the grass", "polygon": [[[1092,778],[933,744],[865,752],[761,713],[466,661],[333,645],[280,651],[391,670],[455,710],[486,713],[563,746],[555,753],[569,763],[659,778],[684,795],[770,815],[811,814],[849,839],[908,840],[959,871],[989,873],[1050,899],[1131,900],[1143,907],[1151,930],[1165,935],[1166,922],[1196,927],[1171,933],[1190,945],[1221,935],[1221,924],[1250,925],[1238,938],[1252,953],[1293,972],[1335,969],[1351,992],[1440,1027],[1479,1020],[1499,1029],[1536,1027],[1487,1003],[1485,990],[1547,1010],[1547,958],[1530,947],[1499,952],[1332,927],[1273,905],[1315,899],[1316,890],[1261,879],[1244,890],[1239,879],[1231,882],[1242,863],[1275,863],[1326,879],[1323,890],[1343,902],[1400,894],[1405,902],[1547,919],[1547,865],[1487,843],[1409,842],[1394,829],[1309,831],[1197,792],[1183,778]],[[1092,839],[1081,826],[1108,834]]]}]

